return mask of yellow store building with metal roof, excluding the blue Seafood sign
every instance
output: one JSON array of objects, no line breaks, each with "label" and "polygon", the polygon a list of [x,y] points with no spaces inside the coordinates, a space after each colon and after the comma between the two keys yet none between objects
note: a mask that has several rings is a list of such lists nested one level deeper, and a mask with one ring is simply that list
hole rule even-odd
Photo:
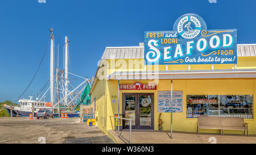
[{"label": "yellow store building with metal roof, excluding the blue Seafood sign", "polygon": [[196,132],[197,116],[207,115],[243,117],[249,123],[249,134],[256,135],[256,44],[238,44],[237,56],[237,64],[152,66],[144,65],[143,43],[107,47],[90,90],[98,128],[107,135],[109,129],[115,129],[110,116],[118,114],[119,100],[119,114],[132,118],[134,129],[158,130],[162,113],[163,130],[170,131],[171,113],[164,111],[170,100],[164,94],[170,93],[172,79],[174,102],[180,103],[173,113],[174,131]]}]

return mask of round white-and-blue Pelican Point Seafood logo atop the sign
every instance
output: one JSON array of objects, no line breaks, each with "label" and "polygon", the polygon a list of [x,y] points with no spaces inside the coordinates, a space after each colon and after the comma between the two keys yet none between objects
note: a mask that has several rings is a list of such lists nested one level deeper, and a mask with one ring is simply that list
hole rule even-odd
[{"label": "round white-and-blue Pelican Point Seafood logo atop the sign", "polygon": [[201,23],[195,16],[187,15],[180,19],[177,24],[177,31],[185,39],[192,39],[199,35]]}]

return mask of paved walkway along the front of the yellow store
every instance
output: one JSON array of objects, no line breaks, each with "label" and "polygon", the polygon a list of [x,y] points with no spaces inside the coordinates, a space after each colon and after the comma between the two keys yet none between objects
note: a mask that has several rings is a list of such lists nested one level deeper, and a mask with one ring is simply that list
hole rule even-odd
[{"label": "paved walkway along the front of the yellow store", "polygon": [[[109,130],[109,133],[114,137],[114,141],[118,144],[128,143],[118,137],[117,131]],[[130,139],[130,132],[123,131],[122,136],[126,139]],[[213,141],[211,139],[216,139],[217,144],[256,144],[256,136],[249,135],[218,135],[213,133],[172,133],[172,139],[170,138],[170,132],[159,132],[159,131],[134,131],[131,133],[131,143],[132,144],[210,144]],[[213,137],[209,140],[210,137]]]}]

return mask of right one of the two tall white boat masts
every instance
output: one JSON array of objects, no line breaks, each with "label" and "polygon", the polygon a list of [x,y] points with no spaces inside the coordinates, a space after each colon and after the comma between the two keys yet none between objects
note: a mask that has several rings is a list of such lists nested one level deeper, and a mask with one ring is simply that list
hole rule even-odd
[{"label": "right one of the two tall white boat masts", "polygon": [[65,100],[64,104],[68,104],[68,37],[65,37]]}]

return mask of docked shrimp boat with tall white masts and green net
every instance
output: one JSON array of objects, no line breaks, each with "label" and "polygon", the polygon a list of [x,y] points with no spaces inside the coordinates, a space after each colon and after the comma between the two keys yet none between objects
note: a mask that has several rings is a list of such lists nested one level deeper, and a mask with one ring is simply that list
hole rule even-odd
[{"label": "docked shrimp boat with tall white masts and green net", "polygon": [[[39,110],[48,109],[55,113],[55,118],[58,118],[61,113],[65,112],[69,118],[80,117],[80,112],[76,111],[76,107],[80,104],[90,104],[90,100],[86,98],[89,95],[89,90],[92,85],[93,79],[87,77],[77,76],[76,74],[68,72],[68,37],[65,37],[65,60],[63,61],[63,69],[59,69],[59,45],[57,50],[57,56],[55,55],[53,29],[51,31],[51,62],[50,62],[50,78],[46,85],[40,89],[39,93],[36,93],[34,97],[30,96],[30,99],[19,99],[19,106],[7,106],[5,108],[9,115],[13,116],[29,117],[29,115]],[[64,54],[63,54],[64,55]],[[55,65],[55,57],[57,57],[57,64]],[[65,66],[65,67],[64,67]],[[65,75],[64,75],[65,74]],[[76,88],[71,85],[71,81],[68,80],[68,74],[72,76],[80,77],[82,83]],[[47,84],[49,87],[47,89]],[[72,89],[71,90],[71,86]],[[43,91],[45,90],[45,91]],[[49,92],[48,92],[49,91]],[[51,102],[42,101],[46,98],[47,93],[51,98]],[[85,97],[86,96],[86,97]],[[80,97],[80,98],[79,98]],[[55,102],[56,100],[56,102]]]}]

